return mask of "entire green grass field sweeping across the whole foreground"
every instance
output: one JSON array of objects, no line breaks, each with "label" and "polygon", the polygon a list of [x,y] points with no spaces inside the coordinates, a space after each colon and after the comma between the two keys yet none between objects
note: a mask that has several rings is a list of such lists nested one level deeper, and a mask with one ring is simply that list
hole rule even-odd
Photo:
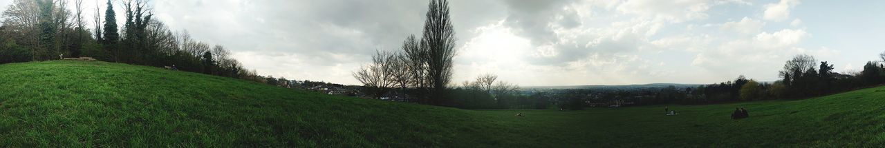
[{"label": "entire green grass field sweeping across the whole foreground", "polygon": [[[0,147],[885,145],[885,87],[669,107],[681,115],[664,106],[461,110],[121,63],[0,65]],[[731,120],[735,107],[750,118]]]}]

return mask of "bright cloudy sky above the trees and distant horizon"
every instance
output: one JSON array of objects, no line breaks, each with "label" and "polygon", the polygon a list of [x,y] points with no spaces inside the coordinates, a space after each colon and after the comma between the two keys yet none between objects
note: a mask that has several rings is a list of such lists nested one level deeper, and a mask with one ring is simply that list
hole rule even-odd
[{"label": "bright cloudy sky above the trees and distant horizon", "polygon": [[[103,13],[105,2],[98,4]],[[84,4],[96,7],[95,0]],[[150,6],[171,29],[225,46],[261,75],[345,85],[359,85],[351,72],[376,50],[399,51],[407,36],[420,36],[427,12],[420,0]],[[458,39],[452,82],[485,73],[517,85],[712,84],[739,75],[773,81],[798,54],[856,72],[885,51],[881,8],[885,1],[450,0]]]}]

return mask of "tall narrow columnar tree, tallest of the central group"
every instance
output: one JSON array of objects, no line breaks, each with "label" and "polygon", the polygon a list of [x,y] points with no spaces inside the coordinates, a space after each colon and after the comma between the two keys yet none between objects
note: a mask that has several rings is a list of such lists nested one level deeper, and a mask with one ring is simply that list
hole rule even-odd
[{"label": "tall narrow columnar tree, tallest of the central group", "polygon": [[447,0],[430,0],[427,5],[422,44],[427,45],[427,74],[432,88],[432,104],[442,104],[443,92],[452,75],[452,59],[455,56],[455,31],[449,18]]}]

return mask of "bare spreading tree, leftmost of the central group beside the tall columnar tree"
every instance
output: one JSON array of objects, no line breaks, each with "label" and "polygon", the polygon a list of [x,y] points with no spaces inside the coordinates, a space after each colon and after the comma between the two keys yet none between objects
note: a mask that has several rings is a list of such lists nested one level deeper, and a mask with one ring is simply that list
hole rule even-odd
[{"label": "bare spreading tree, leftmost of the central group beside the tall columnar tree", "polygon": [[372,56],[372,63],[364,65],[360,70],[353,72],[353,78],[357,78],[363,86],[373,93],[375,99],[381,99],[389,88],[396,85],[391,75],[391,63],[396,58],[386,51],[376,51]]}]

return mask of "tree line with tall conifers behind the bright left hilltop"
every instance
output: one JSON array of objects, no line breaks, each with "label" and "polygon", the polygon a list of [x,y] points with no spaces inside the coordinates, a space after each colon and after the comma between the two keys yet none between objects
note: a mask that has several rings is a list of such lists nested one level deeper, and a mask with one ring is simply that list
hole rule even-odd
[{"label": "tree line with tall conifers behind the bright left hilltop", "polygon": [[[100,4],[93,13],[95,26],[83,21],[87,10],[74,0],[73,12],[65,0],[13,0],[0,26],[0,63],[55,60],[89,56],[97,60],[201,72],[229,78],[256,79],[231,57],[227,48],[192,39],[186,31],[173,32],[153,18],[148,0]],[[115,4],[122,6],[125,23],[118,26]]]}]

